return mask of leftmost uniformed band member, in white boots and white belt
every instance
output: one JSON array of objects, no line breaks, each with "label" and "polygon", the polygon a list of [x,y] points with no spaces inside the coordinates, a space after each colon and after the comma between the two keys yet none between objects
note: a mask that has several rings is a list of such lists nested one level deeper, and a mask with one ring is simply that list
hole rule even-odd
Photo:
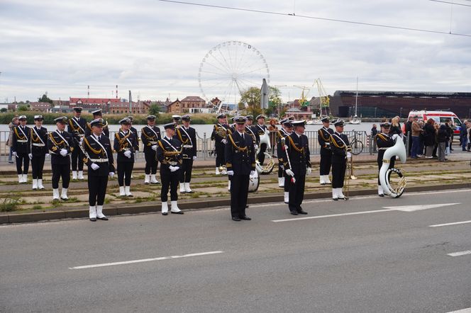
[{"label": "leftmost uniformed band member, in white boots and white belt", "polygon": [[13,157],[16,157],[18,183],[26,183],[28,182],[29,154],[31,154],[31,129],[26,126],[26,115],[21,115],[18,120],[20,125],[13,128],[11,150]]}]

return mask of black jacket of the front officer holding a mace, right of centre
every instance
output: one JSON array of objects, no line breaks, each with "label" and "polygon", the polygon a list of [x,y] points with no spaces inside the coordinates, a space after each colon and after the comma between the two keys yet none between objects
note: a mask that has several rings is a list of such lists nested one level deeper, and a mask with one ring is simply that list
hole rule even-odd
[{"label": "black jacket of the front officer holding a mace, right of centre", "polygon": [[[297,135],[292,132],[286,137],[287,153],[282,153],[284,169],[291,169],[294,176],[306,175],[306,169],[311,167],[311,154],[309,152],[309,142],[306,135]],[[289,155],[289,166],[287,154]]]}]

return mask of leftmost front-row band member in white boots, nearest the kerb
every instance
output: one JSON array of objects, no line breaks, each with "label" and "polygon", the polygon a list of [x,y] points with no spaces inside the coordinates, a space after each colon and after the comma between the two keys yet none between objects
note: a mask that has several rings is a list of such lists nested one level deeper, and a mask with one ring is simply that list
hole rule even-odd
[{"label": "leftmost front-row band member in white boots, nearest the kerb", "polygon": [[83,159],[88,166],[89,217],[92,222],[96,219],[107,221],[103,205],[108,176],[114,176],[113,150],[109,137],[103,133],[103,119],[92,120],[90,127],[92,135],[84,138],[86,156]]}]

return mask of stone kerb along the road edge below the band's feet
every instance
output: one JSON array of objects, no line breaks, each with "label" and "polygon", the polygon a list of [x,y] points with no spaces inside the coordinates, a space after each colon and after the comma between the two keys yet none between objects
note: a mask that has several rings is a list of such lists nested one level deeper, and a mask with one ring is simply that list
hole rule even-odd
[{"label": "stone kerb along the road edge below the band's feet", "polygon": [[[463,189],[471,188],[471,183],[453,183],[450,185],[432,185],[432,186],[415,186],[407,188],[408,192],[421,192],[431,190],[450,190],[450,189]],[[375,189],[360,189],[351,190],[350,197],[357,195],[376,195],[377,190]],[[331,198],[331,192],[323,193],[305,193],[304,199],[328,199]],[[283,201],[283,195],[260,195],[256,197],[249,197],[248,204],[259,204],[259,203],[281,203]],[[211,209],[214,207],[225,207],[231,205],[229,198],[222,199],[208,199],[199,200],[196,202],[182,202],[179,203],[179,207],[182,210],[203,210]],[[104,214],[106,215],[125,215],[125,214],[139,214],[149,212],[160,212],[160,202],[143,203],[142,205],[118,207],[110,206],[105,207]],[[86,218],[89,217],[88,209],[82,210],[65,210],[65,211],[54,211],[54,212],[31,212],[31,213],[19,213],[11,215],[0,215],[0,224],[13,224],[13,223],[26,223],[26,222],[40,222],[48,220],[64,220],[73,218]]]}]

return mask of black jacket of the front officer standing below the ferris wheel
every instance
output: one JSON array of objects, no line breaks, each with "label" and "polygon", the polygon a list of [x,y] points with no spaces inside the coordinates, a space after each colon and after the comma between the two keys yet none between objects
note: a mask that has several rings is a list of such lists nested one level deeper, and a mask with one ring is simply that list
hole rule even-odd
[{"label": "black jacket of the front officer standing below the ferris wheel", "polygon": [[255,171],[252,137],[246,133],[242,137],[239,132],[228,135],[225,157],[228,171],[234,171],[234,175],[250,175],[250,171]]}]

